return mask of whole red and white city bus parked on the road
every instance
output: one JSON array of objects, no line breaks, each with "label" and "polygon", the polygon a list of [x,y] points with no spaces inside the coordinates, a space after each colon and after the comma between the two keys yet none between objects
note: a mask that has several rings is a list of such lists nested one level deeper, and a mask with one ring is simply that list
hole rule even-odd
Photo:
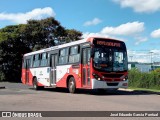
[{"label": "whole red and white city bus parked on the road", "polygon": [[40,87],[118,89],[128,87],[127,50],[123,41],[90,37],[27,53],[22,83]]}]

